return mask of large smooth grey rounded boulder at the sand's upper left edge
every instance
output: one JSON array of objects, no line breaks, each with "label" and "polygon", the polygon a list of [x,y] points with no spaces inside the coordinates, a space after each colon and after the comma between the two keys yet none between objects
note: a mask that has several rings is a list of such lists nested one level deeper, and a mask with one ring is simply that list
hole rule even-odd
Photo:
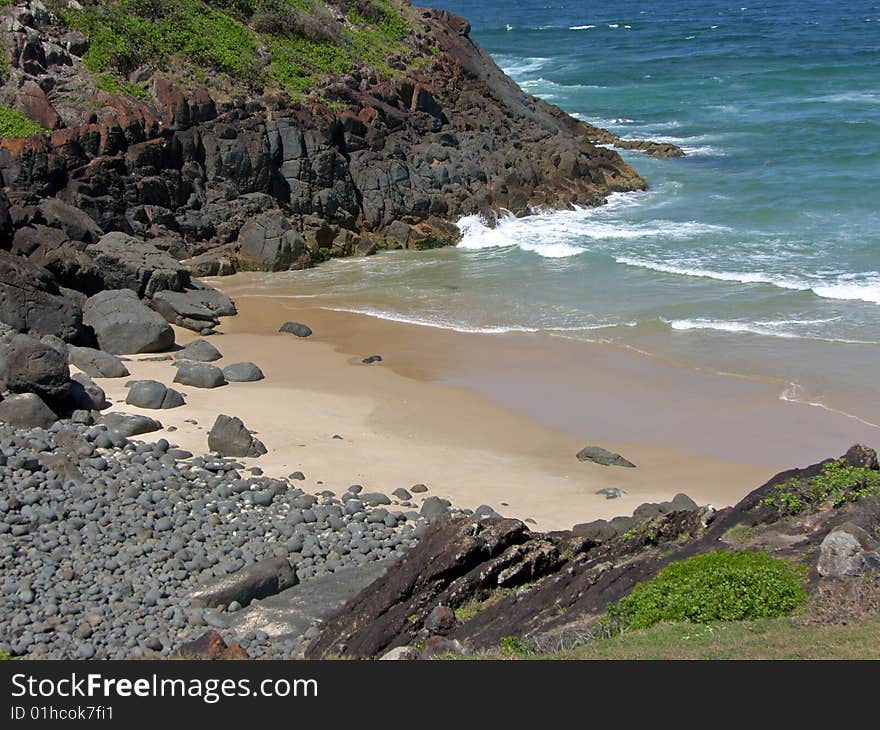
[{"label": "large smooth grey rounded boulder at the sand's upper left edge", "polygon": [[163,352],[174,344],[174,330],[131,289],[108,289],[89,297],[83,321],[102,350],[116,355]]}]

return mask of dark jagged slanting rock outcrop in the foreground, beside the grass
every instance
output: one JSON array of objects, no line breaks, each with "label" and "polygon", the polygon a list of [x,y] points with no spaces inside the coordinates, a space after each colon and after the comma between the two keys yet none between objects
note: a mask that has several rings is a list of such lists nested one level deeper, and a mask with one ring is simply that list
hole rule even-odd
[{"label": "dark jagged slanting rock outcrop in the foreground, beside the grass", "polygon": [[[570,645],[636,583],[714,550],[768,550],[805,563],[814,588],[822,579],[877,570],[876,496],[794,515],[773,506],[780,485],[814,478],[829,462],[778,474],[718,512],[682,499],[671,510],[643,505],[636,511],[641,519],[620,535],[537,533],[497,517],[435,522],[417,548],[323,626],[306,656],[379,657],[413,645],[428,653],[473,652],[497,649],[509,636]],[[876,454],[863,446],[840,463],[877,470]]]}]

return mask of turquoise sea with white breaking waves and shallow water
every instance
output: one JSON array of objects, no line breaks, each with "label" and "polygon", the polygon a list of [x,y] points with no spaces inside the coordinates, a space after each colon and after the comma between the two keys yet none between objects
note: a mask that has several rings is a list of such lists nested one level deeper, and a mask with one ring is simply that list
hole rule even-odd
[{"label": "turquoise sea with white breaking waves and shallow water", "polygon": [[648,192],[465,219],[458,249],[337,262],[299,293],[614,342],[880,423],[880,3],[434,4],[530,93],[687,157],[625,152]]}]

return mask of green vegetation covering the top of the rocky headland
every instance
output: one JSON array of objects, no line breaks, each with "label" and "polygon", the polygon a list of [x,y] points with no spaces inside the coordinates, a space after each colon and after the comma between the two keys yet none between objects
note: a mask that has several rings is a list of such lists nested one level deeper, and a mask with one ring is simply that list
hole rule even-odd
[{"label": "green vegetation covering the top of the rocky headland", "polygon": [[94,73],[125,76],[154,63],[296,97],[324,74],[363,64],[384,70],[390,55],[404,53],[410,25],[402,4],[334,4],[339,10],[321,0],[87,0],[82,10],[57,12],[88,34],[84,61]]}]

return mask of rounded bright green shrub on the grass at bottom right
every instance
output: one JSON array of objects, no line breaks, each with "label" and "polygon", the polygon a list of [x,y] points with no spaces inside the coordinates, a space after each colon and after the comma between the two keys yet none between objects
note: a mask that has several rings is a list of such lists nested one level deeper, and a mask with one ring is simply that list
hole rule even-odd
[{"label": "rounded bright green shrub on the grass at bottom right", "polygon": [[803,566],[766,553],[741,551],[697,555],[661,570],[632,593],[610,604],[618,631],[661,621],[745,621],[791,613],[807,598]]}]

